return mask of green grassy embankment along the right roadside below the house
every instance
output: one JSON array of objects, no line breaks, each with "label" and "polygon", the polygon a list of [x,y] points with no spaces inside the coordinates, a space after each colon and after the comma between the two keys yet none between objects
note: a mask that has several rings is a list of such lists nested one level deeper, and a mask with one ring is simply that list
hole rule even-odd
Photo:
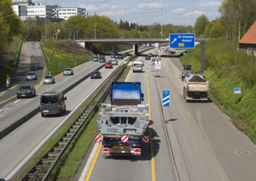
[{"label": "green grassy embankment along the right roadside below the house", "polygon": [[[237,47],[237,43],[221,39],[206,41],[203,75],[209,80],[209,97],[256,143],[256,58],[239,54]],[[190,49],[180,61],[191,64],[192,72],[200,72],[201,45]],[[241,94],[234,94],[236,87],[241,87]]]}]

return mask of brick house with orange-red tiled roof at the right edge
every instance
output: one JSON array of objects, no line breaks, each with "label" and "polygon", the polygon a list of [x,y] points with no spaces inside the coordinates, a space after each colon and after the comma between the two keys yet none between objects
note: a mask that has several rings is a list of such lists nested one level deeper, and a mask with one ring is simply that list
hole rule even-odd
[{"label": "brick house with orange-red tiled roof at the right edge", "polygon": [[249,30],[243,35],[238,42],[239,53],[256,56],[256,21],[253,22]]}]

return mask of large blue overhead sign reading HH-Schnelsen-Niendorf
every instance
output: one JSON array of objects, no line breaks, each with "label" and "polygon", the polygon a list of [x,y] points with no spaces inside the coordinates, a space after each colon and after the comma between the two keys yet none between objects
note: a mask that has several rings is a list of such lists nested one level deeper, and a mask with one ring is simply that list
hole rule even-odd
[{"label": "large blue overhead sign reading HH-Schnelsen-Niendorf", "polygon": [[170,48],[195,48],[195,34],[170,34]]}]

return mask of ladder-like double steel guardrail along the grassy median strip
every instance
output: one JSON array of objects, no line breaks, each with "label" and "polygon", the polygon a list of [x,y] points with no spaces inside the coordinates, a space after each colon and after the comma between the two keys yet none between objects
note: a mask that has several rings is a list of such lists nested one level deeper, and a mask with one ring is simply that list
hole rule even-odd
[{"label": "ladder-like double steel guardrail along the grassy median strip", "polygon": [[[128,61],[129,62],[129,61]],[[89,118],[97,112],[95,110],[99,103],[102,103],[108,96],[111,88],[111,83],[117,81],[120,77],[122,71],[126,68],[127,64],[123,64],[115,72],[115,74],[110,78],[110,80],[103,86],[103,88],[97,93],[93,98],[91,103],[84,109],[80,116],[74,121],[74,123],[67,129],[66,133],[61,137],[61,139],[54,144],[54,146],[49,149],[47,154],[45,154],[39,162],[23,177],[21,181],[46,181],[52,170],[54,169],[57,162],[60,160],[61,155],[65,152],[70,142],[73,140],[74,136],[80,130],[80,128],[88,123]]]}]

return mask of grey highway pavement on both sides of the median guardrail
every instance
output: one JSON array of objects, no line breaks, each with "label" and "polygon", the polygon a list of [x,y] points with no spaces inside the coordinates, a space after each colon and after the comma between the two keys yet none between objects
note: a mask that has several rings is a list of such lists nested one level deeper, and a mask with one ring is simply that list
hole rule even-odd
[{"label": "grey highway pavement on both sides of the median guardrail", "polygon": [[[162,58],[161,62],[161,70],[156,72],[151,71],[149,61],[144,61],[143,72],[130,72],[127,80],[139,81],[142,84],[145,99],[142,103],[150,104],[153,145],[144,145],[140,158],[106,158],[101,156],[101,151],[98,155],[89,152],[73,180],[174,181],[175,174],[167,144],[169,140],[181,181],[254,181],[256,146],[242,132],[236,130],[229,122],[229,117],[223,115],[210,99],[207,103],[185,103],[182,97],[183,82],[180,78],[182,65],[178,58]],[[27,102],[28,99],[20,99],[10,104],[6,110],[10,111],[8,116],[16,114],[19,109],[24,109],[23,114],[28,113],[28,108],[25,109],[28,107],[27,103],[32,104],[32,107],[38,106],[38,98],[42,92],[63,90],[101,64],[88,62],[75,67],[74,76],[55,76],[56,84],[38,86],[38,96],[30,102]],[[86,79],[68,91],[65,94],[67,112],[63,116],[41,117],[38,113],[2,138],[0,179],[13,180],[17,176],[15,174],[22,171],[23,164],[27,164],[37,149],[61,128],[82,100],[112,70],[101,69],[102,79]],[[155,75],[160,77],[155,78]],[[163,109],[162,90],[170,90],[170,106]],[[21,113],[18,112],[18,115]],[[168,137],[164,133],[165,126]],[[149,134],[149,130],[146,134]],[[91,150],[95,149],[98,149],[98,144],[92,144]],[[90,156],[95,164],[91,164]]]}]

